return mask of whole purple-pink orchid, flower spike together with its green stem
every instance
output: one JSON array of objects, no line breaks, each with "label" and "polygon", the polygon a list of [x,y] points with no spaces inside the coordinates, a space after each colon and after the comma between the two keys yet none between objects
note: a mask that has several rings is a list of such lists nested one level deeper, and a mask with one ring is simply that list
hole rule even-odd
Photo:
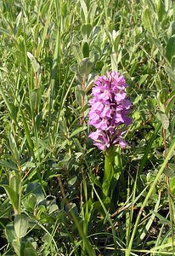
[{"label": "whole purple-pink orchid, flower spike together with its green stem", "polygon": [[[132,123],[128,117],[132,103],[127,100],[126,80],[120,73],[107,72],[94,82],[93,98],[90,100],[88,125],[96,131],[90,133],[93,144],[104,151],[104,179],[102,193],[104,200],[113,195],[121,174],[121,155],[118,148],[125,148],[124,134]],[[107,201],[106,201],[107,202]]]}]

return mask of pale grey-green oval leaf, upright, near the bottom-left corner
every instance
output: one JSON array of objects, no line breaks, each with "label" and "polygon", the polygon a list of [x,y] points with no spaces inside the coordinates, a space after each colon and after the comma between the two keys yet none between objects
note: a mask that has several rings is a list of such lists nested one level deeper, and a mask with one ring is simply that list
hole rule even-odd
[{"label": "pale grey-green oval leaf, upright, near the bottom-left corner", "polygon": [[28,218],[24,214],[14,216],[14,230],[19,239],[26,235],[28,226]]}]

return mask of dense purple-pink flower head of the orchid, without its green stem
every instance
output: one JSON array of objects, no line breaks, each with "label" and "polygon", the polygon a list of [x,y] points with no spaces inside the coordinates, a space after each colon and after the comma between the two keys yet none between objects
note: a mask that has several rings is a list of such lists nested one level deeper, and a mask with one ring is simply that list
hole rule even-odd
[{"label": "dense purple-pink flower head of the orchid, without its green stem", "polygon": [[132,103],[127,100],[127,84],[124,76],[115,71],[107,72],[94,82],[93,98],[90,102],[89,122],[96,131],[90,133],[93,144],[106,150],[118,144],[121,148],[127,143],[123,139],[126,127],[132,123],[128,117]]}]

